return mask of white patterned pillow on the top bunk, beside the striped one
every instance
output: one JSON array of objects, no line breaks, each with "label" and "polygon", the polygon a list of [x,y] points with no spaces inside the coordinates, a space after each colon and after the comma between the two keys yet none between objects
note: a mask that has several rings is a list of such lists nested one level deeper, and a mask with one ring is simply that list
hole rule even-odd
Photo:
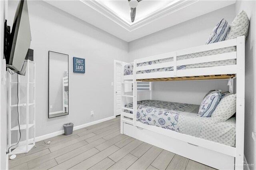
[{"label": "white patterned pillow on the top bunk, beside the striped one", "polygon": [[247,39],[247,34],[248,34],[248,28],[249,28],[249,23],[250,20],[242,10],[234,19],[234,21],[230,25],[230,31],[226,37],[225,40],[230,40],[233,38],[237,38],[239,36],[245,36],[245,40]]}]

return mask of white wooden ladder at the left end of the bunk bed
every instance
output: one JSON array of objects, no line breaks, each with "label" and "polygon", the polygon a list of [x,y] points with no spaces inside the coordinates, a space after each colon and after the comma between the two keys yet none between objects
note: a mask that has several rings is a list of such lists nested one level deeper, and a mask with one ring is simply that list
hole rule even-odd
[{"label": "white wooden ladder at the left end of the bunk bed", "polygon": [[[124,73],[124,65],[126,63],[122,63],[121,66],[121,73]],[[134,61],[134,73],[136,73],[136,61]],[[133,90],[132,95],[126,95],[125,93],[125,85],[132,84]],[[126,98],[132,98],[133,108],[126,108],[124,105],[126,104]],[[136,82],[136,74],[134,74],[133,79],[129,81],[124,81],[124,75],[121,74],[121,129],[120,133],[123,134],[124,132],[124,123],[128,123],[130,125],[136,126],[136,116],[137,116],[137,82]],[[125,110],[132,111],[133,114],[124,112]],[[130,118],[130,119],[129,119]],[[132,120],[131,120],[132,119]]]}]

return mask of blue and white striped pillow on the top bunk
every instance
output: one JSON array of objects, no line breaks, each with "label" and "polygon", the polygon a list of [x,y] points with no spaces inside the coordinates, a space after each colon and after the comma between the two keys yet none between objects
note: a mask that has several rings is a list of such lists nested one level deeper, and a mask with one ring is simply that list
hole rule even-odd
[{"label": "blue and white striped pillow on the top bunk", "polygon": [[229,30],[230,26],[228,25],[228,22],[225,19],[221,19],[217,26],[212,30],[206,44],[224,41]]}]

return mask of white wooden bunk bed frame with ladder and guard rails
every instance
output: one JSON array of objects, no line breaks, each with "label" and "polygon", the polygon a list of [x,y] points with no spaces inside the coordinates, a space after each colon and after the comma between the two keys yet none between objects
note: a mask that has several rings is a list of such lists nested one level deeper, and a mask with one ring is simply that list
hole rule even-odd
[{"label": "white wooden bunk bed frame with ladder and guard rails", "polygon": [[[200,53],[203,51],[216,50],[226,47],[236,47],[236,51],[215,54],[211,56],[195,57],[177,60],[177,57]],[[132,136],[144,142],[158,146],[170,152],[179,154],[196,162],[206,164],[217,169],[243,169],[244,161],[244,81],[245,81],[245,38],[227,40],[208,45],[201,45],[189,49],[183,49],[170,53],[164,53],[142,59],[135,59],[133,63],[133,74],[124,75],[122,63],[121,71],[121,134]],[[172,57],[172,61],[156,63],[152,65],[137,65],[148,61],[156,61]],[[201,64],[212,61],[224,61],[235,59],[232,65],[214,67],[199,67],[178,70],[177,66]],[[137,71],[173,67],[172,71],[160,71],[139,74]],[[236,144],[235,147],[212,142],[202,138],[178,133],[161,127],[146,125],[137,121],[137,89],[134,88],[133,95],[125,93],[124,85],[131,83],[137,87],[137,81],[170,81],[170,80],[205,80],[205,79],[229,79],[236,78]],[[124,107],[125,97],[133,99],[133,108]],[[133,114],[125,112],[132,111]],[[129,119],[130,118],[130,119]]]}]

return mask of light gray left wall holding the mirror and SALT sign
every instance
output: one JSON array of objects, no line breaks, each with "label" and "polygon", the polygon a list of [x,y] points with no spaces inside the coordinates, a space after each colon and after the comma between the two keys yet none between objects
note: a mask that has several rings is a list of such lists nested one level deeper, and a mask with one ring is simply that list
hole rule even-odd
[{"label": "light gray left wall holding the mirror and SALT sign", "polygon": [[[12,24],[18,1],[9,1]],[[128,43],[43,1],[28,1],[31,48],[36,62],[36,136],[113,116],[114,59],[128,60]],[[69,55],[69,115],[48,119],[48,51]],[[73,73],[73,57],[86,73]],[[94,111],[94,116],[90,116]]]}]

